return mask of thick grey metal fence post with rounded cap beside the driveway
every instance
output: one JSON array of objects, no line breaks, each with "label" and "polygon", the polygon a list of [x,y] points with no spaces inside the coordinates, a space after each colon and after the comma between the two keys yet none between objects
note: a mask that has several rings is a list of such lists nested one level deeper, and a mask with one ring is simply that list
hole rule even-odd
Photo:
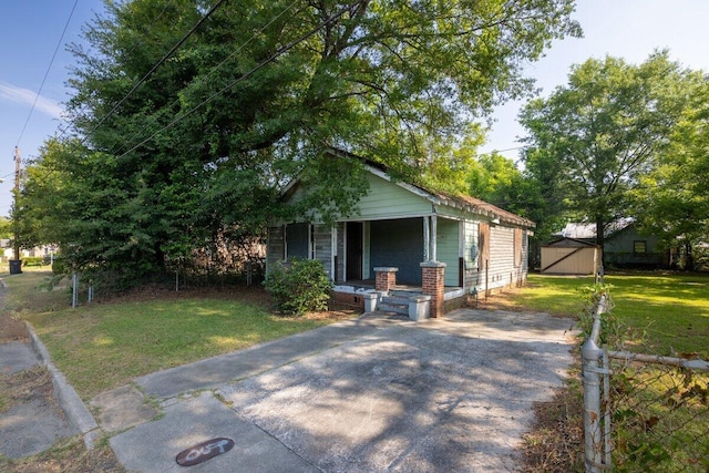
[{"label": "thick grey metal fence post with rounded cap beside the driveway", "polygon": [[603,351],[589,338],[582,347],[584,359],[584,440],[586,473],[600,473],[603,449],[600,438],[600,370]]}]

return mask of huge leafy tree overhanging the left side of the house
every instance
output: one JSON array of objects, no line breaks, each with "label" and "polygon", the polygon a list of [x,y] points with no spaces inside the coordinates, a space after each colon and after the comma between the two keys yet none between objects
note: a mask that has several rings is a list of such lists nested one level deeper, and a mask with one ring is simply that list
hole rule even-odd
[{"label": "huge leafy tree overhanging the left side of the house", "polygon": [[85,176],[56,197],[86,199],[63,206],[82,229],[71,248],[84,265],[156,268],[258,228],[296,174],[318,189],[301,204],[347,213],[361,167],[333,165],[327,146],[445,175],[431,150],[528,92],[523,65],[579,33],[572,12],[573,0],[106,0],[73,48],[80,142],[59,156],[74,163],[54,166]]}]

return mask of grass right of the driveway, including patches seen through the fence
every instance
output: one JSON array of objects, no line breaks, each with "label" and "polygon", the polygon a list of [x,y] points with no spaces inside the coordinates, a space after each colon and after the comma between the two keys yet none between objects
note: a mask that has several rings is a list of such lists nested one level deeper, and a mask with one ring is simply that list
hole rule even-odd
[{"label": "grass right of the driveway, including patches seen through the fence", "polygon": [[[629,349],[709,359],[709,275],[618,273],[608,275],[605,282],[612,286],[612,317],[619,322]],[[503,299],[516,309],[577,316],[584,309],[582,288],[593,284],[592,277],[530,275],[525,288],[505,294]],[[695,398],[707,392],[709,377],[697,373],[691,385],[684,385],[684,374],[677,370],[647,366],[643,377],[626,370],[618,367],[617,377],[627,378],[630,388],[614,394],[616,415],[626,414],[615,423],[614,461],[619,470],[644,471],[651,464],[653,471],[703,471],[707,465],[699,459],[709,449],[709,412],[706,400],[702,404]],[[655,382],[647,383],[646,377]],[[614,385],[618,382],[614,378]],[[688,395],[691,393],[695,398]],[[583,471],[582,388],[577,378],[554,401],[537,405],[535,411],[536,424],[525,436],[523,471]],[[657,419],[655,433],[647,428],[648,419]]]}]

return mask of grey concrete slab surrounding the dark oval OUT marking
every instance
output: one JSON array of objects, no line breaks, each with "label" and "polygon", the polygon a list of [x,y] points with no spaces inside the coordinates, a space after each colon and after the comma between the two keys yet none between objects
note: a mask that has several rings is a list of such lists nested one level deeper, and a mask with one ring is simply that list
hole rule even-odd
[{"label": "grey concrete slab surrounding the dark oval OUT marking", "polygon": [[[219,436],[234,440],[234,449],[188,469],[176,463],[175,459],[183,450]],[[116,457],[129,471],[318,472],[209,392],[169,405],[162,419],[143,423],[110,442]]]}]

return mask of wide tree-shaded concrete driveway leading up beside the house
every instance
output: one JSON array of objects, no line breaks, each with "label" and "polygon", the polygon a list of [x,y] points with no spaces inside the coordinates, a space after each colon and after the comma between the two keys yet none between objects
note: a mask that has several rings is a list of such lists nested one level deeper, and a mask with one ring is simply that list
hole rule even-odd
[{"label": "wide tree-shaded concrete driveway leading up beside the house", "polygon": [[384,329],[217,392],[322,471],[515,471],[533,402],[573,361],[571,322],[474,319]]}]

